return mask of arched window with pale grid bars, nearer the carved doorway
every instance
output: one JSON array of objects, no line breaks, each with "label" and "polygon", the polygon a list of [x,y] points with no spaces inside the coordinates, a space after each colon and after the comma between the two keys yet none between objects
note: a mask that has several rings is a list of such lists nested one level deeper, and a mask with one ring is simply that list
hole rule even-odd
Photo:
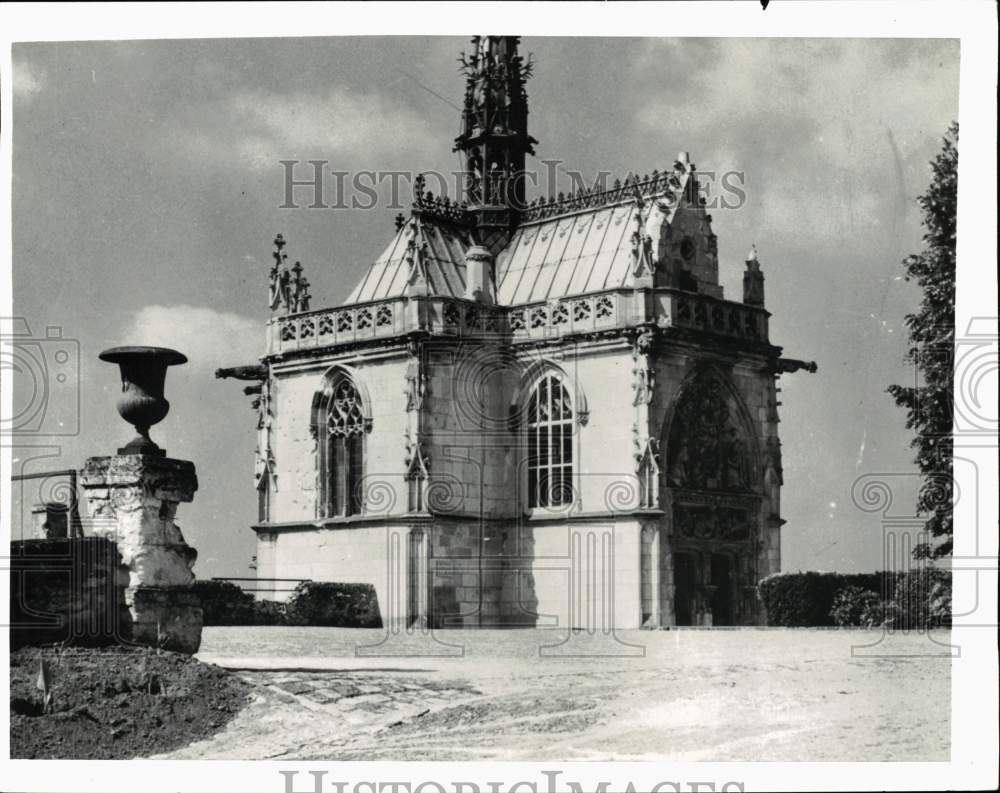
[{"label": "arched window with pale grid bars, nearer the carved doorway", "polygon": [[545,375],[528,400],[528,506],[573,501],[573,401],[562,380]]}]

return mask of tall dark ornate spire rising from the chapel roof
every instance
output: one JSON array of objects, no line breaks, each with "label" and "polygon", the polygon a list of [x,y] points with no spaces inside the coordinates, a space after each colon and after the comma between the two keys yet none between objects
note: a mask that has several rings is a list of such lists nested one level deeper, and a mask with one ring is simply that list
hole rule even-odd
[{"label": "tall dark ornate spire rising from the chapel roof", "polygon": [[[477,221],[479,242],[494,248],[494,235],[516,223],[524,207],[524,159],[537,141],[528,134],[530,59],[518,52],[518,36],[473,36],[472,52],[459,59],[465,73],[462,134],[465,201]],[[496,252],[495,250],[493,251]]]}]

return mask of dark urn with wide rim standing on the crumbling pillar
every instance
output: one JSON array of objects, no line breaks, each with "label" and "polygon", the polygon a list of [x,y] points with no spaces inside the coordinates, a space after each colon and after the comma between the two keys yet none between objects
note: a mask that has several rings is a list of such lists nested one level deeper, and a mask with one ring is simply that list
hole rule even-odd
[{"label": "dark urn with wide rim standing on the crumbling pillar", "polygon": [[99,357],[118,364],[122,377],[118,413],[138,433],[118,454],[165,457],[166,452],[150,440],[149,428],[163,421],[170,411],[170,403],[163,396],[167,367],[187,363],[187,358],[166,347],[112,347]]}]

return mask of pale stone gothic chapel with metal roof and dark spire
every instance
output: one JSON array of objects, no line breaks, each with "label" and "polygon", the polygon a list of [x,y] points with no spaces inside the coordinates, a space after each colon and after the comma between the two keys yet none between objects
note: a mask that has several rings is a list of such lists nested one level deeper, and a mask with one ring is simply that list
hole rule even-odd
[{"label": "pale stone gothic chapel with metal roof and dark spire", "polygon": [[[781,564],[755,250],[727,300],[682,154],[526,203],[516,36],[463,58],[460,200],[417,180],[336,308],[276,242],[256,381],[257,575],[374,586],[385,624],[745,625]],[[273,586],[274,591],[267,591]]]}]

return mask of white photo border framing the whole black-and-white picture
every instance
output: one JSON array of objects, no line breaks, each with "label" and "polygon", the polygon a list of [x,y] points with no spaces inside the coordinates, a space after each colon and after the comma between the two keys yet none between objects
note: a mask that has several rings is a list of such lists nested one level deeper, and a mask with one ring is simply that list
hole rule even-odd
[{"label": "white photo border framing the whole black-and-white picture", "polygon": [[[996,75],[997,15],[991,2],[783,2],[766,11],[759,2],[694,3],[260,3],[260,4],[6,4],[0,7],[0,109],[12,106],[11,44],[18,41],[79,41],[149,38],[245,38],[343,35],[461,35],[476,19],[489,20],[494,33],[545,36],[700,37],[904,37],[957,38],[961,47],[959,121],[958,284],[959,333],[973,317],[992,318],[996,335]],[[11,304],[11,134],[10,114],[0,116],[0,317]],[[9,324],[9,319],[2,320]],[[9,327],[0,328],[9,331]],[[0,380],[2,409],[9,410],[10,380]],[[995,447],[996,439],[992,439]],[[0,439],[0,541],[9,541],[11,503],[9,445]],[[978,586],[978,619],[960,618],[953,638],[961,657],[952,667],[952,751],[947,763],[334,763],[235,761],[42,761],[2,760],[2,788],[19,791],[284,791],[280,772],[298,771],[293,790],[311,791],[308,771],[326,771],[324,790],[335,780],[535,781],[545,771],[575,781],[584,790],[905,790],[992,789],[997,784],[996,567],[997,457],[982,455],[980,504],[956,505],[955,524],[972,525],[977,509],[981,534],[978,555],[971,540],[956,536],[956,556],[973,558],[986,575],[955,579],[955,601],[969,602],[965,587]],[[956,469],[956,476],[962,472]],[[959,486],[962,483],[959,482]],[[968,492],[972,492],[971,490]],[[970,553],[972,551],[972,553]],[[985,556],[984,556],[985,554]],[[4,587],[9,576],[3,575]],[[0,598],[0,623],[8,599]],[[988,619],[984,619],[988,617]],[[963,622],[994,627],[963,628]],[[0,633],[4,669],[0,680],[9,695],[7,631]],[[9,753],[9,715],[0,725],[0,756]],[[709,787],[714,780],[715,787]],[[679,785],[672,786],[670,781]],[[739,781],[743,787],[729,787]],[[691,787],[700,783],[699,787]],[[353,791],[353,781],[343,788]],[[362,786],[359,790],[371,788]],[[376,790],[378,788],[375,788]],[[385,790],[392,790],[386,787]],[[417,788],[414,787],[414,790]],[[437,790],[433,785],[423,788]],[[446,789],[453,790],[454,788]],[[483,787],[484,790],[489,789]],[[502,789],[510,789],[505,787]],[[517,788],[529,790],[529,787]]]}]

